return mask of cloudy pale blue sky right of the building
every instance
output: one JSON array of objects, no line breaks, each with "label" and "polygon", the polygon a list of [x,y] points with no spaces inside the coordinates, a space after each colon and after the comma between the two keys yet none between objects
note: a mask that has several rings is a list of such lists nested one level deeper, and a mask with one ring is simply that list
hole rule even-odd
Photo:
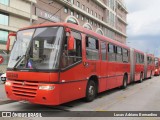
[{"label": "cloudy pale blue sky right of the building", "polygon": [[127,45],[160,57],[160,0],[125,0]]}]

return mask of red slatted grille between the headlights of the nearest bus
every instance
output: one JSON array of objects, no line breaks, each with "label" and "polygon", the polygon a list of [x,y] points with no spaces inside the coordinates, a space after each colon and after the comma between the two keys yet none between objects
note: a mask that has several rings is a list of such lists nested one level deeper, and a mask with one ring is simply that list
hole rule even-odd
[{"label": "red slatted grille between the headlights of the nearest bus", "polygon": [[38,89],[38,82],[13,81],[13,94],[20,97],[34,98]]}]

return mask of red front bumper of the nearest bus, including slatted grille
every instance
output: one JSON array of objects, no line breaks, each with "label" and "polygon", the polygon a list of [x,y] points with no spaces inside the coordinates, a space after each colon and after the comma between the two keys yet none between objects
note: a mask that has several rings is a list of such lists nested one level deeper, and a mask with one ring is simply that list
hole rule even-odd
[{"label": "red front bumper of the nearest bus, including slatted grille", "polygon": [[[7,80],[6,83],[10,85],[5,85],[5,90],[7,97],[15,101],[28,101],[35,104],[43,105],[59,105],[59,86],[58,84],[41,84],[34,83],[32,85],[26,83],[26,85],[20,85],[20,82],[14,82]],[[53,90],[39,90],[39,86],[54,86]],[[34,86],[34,89],[33,89]]]}]

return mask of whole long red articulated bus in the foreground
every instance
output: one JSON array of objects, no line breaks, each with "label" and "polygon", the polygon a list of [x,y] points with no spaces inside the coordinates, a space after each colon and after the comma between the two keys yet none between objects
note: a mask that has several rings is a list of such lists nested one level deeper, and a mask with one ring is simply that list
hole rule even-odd
[{"label": "whole long red articulated bus in the foreground", "polygon": [[99,92],[142,81],[147,71],[151,75],[145,56],[151,57],[71,23],[23,28],[11,51],[6,93],[12,100],[43,105],[92,101]]}]

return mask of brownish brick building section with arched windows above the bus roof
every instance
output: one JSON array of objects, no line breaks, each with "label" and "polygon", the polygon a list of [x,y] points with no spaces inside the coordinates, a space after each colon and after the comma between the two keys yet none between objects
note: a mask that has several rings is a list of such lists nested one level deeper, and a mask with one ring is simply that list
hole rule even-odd
[{"label": "brownish brick building section with arched windows above the bus roof", "polygon": [[71,22],[121,43],[126,43],[126,16],[123,0],[37,0],[33,24]]}]

